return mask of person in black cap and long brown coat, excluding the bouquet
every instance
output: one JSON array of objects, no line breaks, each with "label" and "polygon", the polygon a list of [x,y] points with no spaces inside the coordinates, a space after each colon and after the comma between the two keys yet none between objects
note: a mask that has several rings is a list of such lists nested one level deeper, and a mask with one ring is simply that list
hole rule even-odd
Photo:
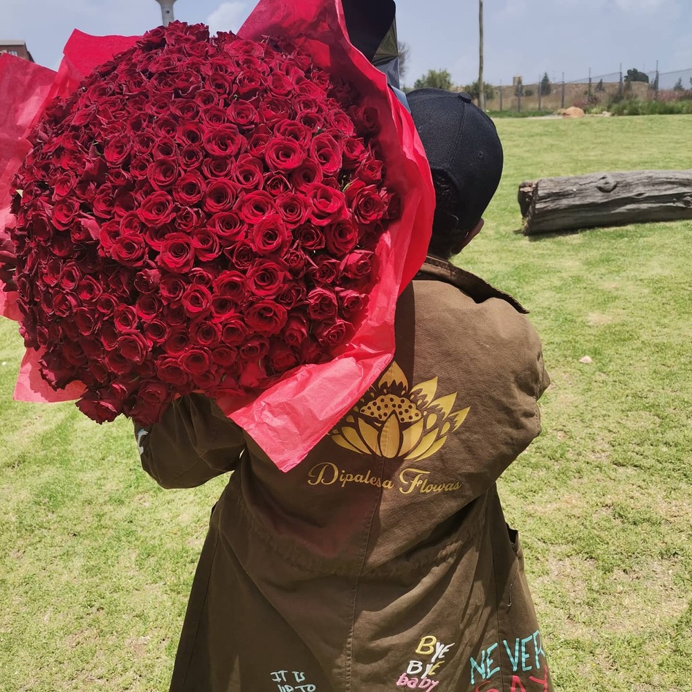
[{"label": "person in black cap and long brown coat, excluding the bouquet", "polygon": [[495,486],[540,432],[540,341],[516,301],[448,261],[482,227],[502,147],[464,94],[408,102],[437,207],[388,369],[288,473],[198,394],[138,428],[165,487],[233,471],[172,691],[552,689]]}]

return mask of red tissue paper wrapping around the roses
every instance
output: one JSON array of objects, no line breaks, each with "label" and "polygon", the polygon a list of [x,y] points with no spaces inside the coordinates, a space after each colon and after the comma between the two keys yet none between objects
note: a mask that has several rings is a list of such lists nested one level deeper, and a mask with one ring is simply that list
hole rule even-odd
[{"label": "red tissue paper wrapping around the roses", "polygon": [[[230,419],[244,428],[282,471],[289,471],[336,424],[390,363],[394,354],[397,298],[426,256],[435,196],[430,170],[415,126],[388,88],[385,76],[350,44],[340,0],[301,3],[262,0],[239,37],[285,37],[318,66],[353,82],[363,104],[378,111],[379,138],[388,179],[402,197],[401,217],[376,249],[379,279],[365,317],[347,347],[328,363],[303,365],[249,402],[219,399]],[[130,48],[139,37],[94,37],[75,31],[57,73],[10,55],[0,57],[0,253],[10,221],[10,183],[30,149],[26,137],[55,96],[75,91],[98,65]],[[0,284],[1,288],[1,284]],[[0,315],[19,320],[16,293],[0,290]],[[51,403],[78,399],[84,387],[55,391],[39,373],[41,352],[28,349],[15,399]]]}]

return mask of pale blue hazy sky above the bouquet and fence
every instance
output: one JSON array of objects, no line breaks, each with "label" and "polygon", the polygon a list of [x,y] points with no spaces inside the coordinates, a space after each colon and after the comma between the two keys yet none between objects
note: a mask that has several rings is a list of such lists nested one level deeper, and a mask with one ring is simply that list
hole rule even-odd
[{"label": "pale blue hazy sky above the bouquet and fence", "polygon": [[[300,0],[296,0],[300,1]],[[237,30],[254,0],[176,0],[176,19]],[[0,0],[0,39],[22,39],[39,64],[57,69],[74,28],[140,35],[161,23],[156,0]],[[455,84],[478,75],[476,0],[399,0],[399,40],[410,48],[403,82],[446,69]],[[485,80],[525,84],[636,68],[692,69],[692,0],[484,0]],[[0,40],[1,43],[1,40]],[[692,73],[690,73],[692,76]],[[686,82],[686,80],[685,80]],[[662,84],[662,86],[664,86]]]}]

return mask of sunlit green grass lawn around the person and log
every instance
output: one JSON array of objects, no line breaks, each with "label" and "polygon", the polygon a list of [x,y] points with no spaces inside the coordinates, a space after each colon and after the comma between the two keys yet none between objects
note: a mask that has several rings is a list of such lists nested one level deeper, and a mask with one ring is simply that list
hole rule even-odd
[{"label": "sunlit green grass lawn around the person and log", "polygon": [[[691,167],[692,116],[498,129],[502,184],[457,262],[514,293],[545,344],[543,435],[500,491],[556,689],[692,691],[692,224],[529,239],[516,201],[525,179]],[[21,351],[2,320],[0,692],[167,689],[223,480],[162,491],[128,421],[10,401]]]}]

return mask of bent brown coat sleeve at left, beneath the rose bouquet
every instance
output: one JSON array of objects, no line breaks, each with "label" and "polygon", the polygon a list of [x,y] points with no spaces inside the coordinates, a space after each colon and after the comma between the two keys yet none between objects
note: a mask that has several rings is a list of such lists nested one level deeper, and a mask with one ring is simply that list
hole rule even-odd
[{"label": "bent brown coat sleeve at left, beneath the rose bouquet", "polygon": [[144,470],[164,488],[192,488],[233,471],[245,449],[243,431],[201,394],[176,399],[160,423],[135,422]]}]

